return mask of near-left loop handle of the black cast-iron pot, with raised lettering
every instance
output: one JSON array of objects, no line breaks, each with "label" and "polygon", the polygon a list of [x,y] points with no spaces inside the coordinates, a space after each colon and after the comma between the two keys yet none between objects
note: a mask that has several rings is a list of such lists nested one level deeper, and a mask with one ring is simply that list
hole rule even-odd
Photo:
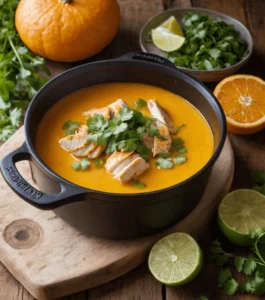
[{"label": "near-left loop handle of the black cast-iron pot, with raised lettering", "polygon": [[28,203],[42,209],[53,209],[75,201],[75,197],[84,193],[82,188],[77,188],[70,183],[58,178],[60,185],[58,194],[45,194],[30,185],[19,173],[15,163],[30,160],[31,154],[24,143],[17,150],[6,155],[0,163],[2,175],[11,189]]}]

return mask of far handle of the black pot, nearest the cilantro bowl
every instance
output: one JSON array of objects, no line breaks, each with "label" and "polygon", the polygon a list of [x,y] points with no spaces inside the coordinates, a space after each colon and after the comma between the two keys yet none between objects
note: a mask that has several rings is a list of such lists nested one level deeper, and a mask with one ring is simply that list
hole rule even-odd
[{"label": "far handle of the black pot, nearest the cilantro bowl", "polygon": [[170,67],[175,69],[175,65],[168,59],[153,54],[153,53],[145,53],[145,52],[130,52],[127,53],[121,57],[118,58],[118,60],[126,60],[126,59],[130,59],[130,60],[144,60],[144,61],[148,61],[148,62],[153,62],[153,63],[157,63],[157,64],[161,64],[164,65],[166,67]]}]

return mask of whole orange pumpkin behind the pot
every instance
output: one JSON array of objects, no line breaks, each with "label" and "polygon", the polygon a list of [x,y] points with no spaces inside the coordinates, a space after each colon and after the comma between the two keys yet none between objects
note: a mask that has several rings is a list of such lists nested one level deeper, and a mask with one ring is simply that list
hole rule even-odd
[{"label": "whole orange pumpkin behind the pot", "polygon": [[112,41],[120,8],[116,0],[21,0],[15,22],[31,51],[73,62],[97,54]]}]

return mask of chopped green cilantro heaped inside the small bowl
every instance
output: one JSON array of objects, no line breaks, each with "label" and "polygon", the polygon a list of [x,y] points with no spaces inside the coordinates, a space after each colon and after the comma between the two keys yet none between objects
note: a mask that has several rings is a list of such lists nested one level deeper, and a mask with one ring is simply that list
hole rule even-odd
[{"label": "chopped green cilantro heaped inside the small bowl", "polygon": [[221,69],[236,64],[247,55],[247,42],[233,25],[221,20],[187,13],[183,30],[184,45],[168,53],[176,66],[195,70]]}]

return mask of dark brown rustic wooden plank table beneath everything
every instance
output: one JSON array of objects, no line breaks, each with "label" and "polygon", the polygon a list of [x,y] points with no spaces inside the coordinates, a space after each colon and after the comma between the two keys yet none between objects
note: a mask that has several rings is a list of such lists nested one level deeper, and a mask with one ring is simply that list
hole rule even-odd
[{"label": "dark brown rustic wooden plank table beneath everything", "polygon": [[[126,52],[139,50],[138,36],[143,24],[152,16],[174,7],[203,7],[228,14],[243,22],[254,38],[255,51],[248,65],[242,70],[265,78],[265,1],[264,0],[119,0],[122,10],[120,31],[102,53],[93,60],[118,57]],[[69,65],[51,64],[54,72],[66,69]],[[214,85],[210,85],[213,88]],[[252,136],[230,135],[236,161],[233,189],[251,186],[252,170],[265,169],[265,135],[264,131]],[[219,237],[212,228],[200,241],[205,257],[209,251],[210,241]],[[234,249],[235,251],[240,251]],[[235,274],[238,281],[244,280]],[[242,278],[241,278],[242,277]],[[146,265],[142,265],[129,274],[103,286],[64,297],[61,300],[195,300],[200,295],[208,299],[259,299],[249,295],[227,297],[216,284],[217,270],[205,260],[198,278],[181,288],[166,287],[150,275]],[[34,298],[17,282],[0,264],[0,300],[33,300]],[[265,298],[264,298],[265,299]]]}]

